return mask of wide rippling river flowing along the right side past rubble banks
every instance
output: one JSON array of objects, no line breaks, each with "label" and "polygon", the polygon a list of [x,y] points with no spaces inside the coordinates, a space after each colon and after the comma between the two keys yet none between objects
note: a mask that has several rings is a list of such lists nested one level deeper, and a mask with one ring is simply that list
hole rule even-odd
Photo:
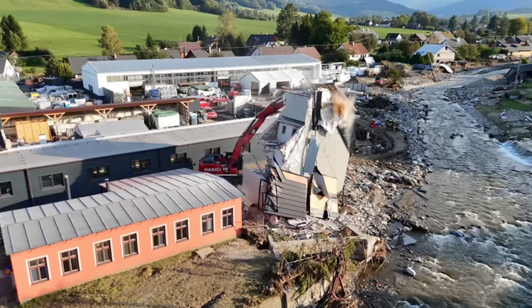
[{"label": "wide rippling river flowing along the right side past rubble banks", "polygon": [[443,100],[448,87],[477,78],[458,75],[415,94],[431,108],[422,127],[435,167],[423,209],[432,232],[409,248],[423,260],[398,289],[410,304],[395,298],[391,307],[532,307],[531,160]]}]

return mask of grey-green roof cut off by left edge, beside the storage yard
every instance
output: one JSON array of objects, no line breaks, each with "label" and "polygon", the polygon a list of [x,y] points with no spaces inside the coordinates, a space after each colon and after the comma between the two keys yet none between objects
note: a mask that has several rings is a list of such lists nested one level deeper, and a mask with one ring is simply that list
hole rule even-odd
[{"label": "grey-green roof cut off by left edge, beside the storage yard", "polygon": [[[1,61],[1,59],[0,59]],[[0,79],[0,114],[35,110],[35,104],[24,95],[15,82]]]}]

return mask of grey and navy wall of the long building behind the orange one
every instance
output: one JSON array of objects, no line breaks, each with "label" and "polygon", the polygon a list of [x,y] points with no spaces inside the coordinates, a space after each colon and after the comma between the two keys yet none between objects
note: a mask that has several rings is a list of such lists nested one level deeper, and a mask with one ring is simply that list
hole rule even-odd
[{"label": "grey and navy wall of the long building behind the orange one", "polygon": [[[250,153],[243,153],[244,163],[255,163],[266,159],[264,150],[257,143],[260,134],[257,134],[250,142]],[[100,184],[105,182],[105,178],[92,180],[90,177],[90,169],[93,167],[107,166],[109,180],[121,180],[129,177],[137,177],[150,173],[163,172],[167,170],[175,170],[183,167],[193,167],[198,170],[199,159],[205,155],[205,150],[208,148],[220,147],[220,153],[231,152],[235,146],[238,138],[228,138],[220,141],[209,141],[205,143],[194,143],[191,145],[175,146],[162,148],[158,150],[139,151],[136,153],[128,153],[125,155],[108,156],[104,158],[97,158],[93,160],[84,160],[76,163],[65,165],[54,165],[48,167],[40,167],[28,170],[29,182],[31,185],[31,192],[33,193],[33,201],[35,205],[48,204],[52,202],[60,202],[67,199],[67,189],[65,186],[47,187],[43,188],[41,177],[44,175],[54,175],[62,173],[63,176],[68,175],[70,179],[70,191],[72,198],[85,197],[92,194],[100,194]],[[139,148],[141,148],[139,144]],[[187,153],[187,158],[192,161],[190,164],[173,165],[170,161],[170,156],[176,153]],[[59,155],[59,154],[58,154]],[[150,170],[145,172],[133,172],[131,167],[132,160],[150,160]],[[4,179],[6,179],[4,181]],[[26,180],[23,171],[10,172],[0,174],[0,182],[11,181],[13,187],[13,196],[0,197],[0,211],[6,211],[13,208],[7,207],[30,207],[32,206],[28,197],[28,190],[26,189]]]}]

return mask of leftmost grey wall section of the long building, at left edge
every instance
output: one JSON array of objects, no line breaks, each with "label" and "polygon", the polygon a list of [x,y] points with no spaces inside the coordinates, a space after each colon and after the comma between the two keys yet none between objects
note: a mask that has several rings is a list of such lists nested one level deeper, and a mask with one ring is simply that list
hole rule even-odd
[{"label": "leftmost grey wall section of the long building, at left edge", "polygon": [[0,175],[0,183],[11,182],[13,195],[0,197],[0,210],[21,209],[30,207],[28,189],[26,188],[26,178],[23,171],[9,172]]}]

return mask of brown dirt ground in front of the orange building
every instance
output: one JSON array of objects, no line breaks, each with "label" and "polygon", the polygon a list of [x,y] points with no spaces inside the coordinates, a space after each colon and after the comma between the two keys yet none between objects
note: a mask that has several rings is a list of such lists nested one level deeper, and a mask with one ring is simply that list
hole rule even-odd
[{"label": "brown dirt ground in front of the orange building", "polygon": [[[201,308],[223,293],[221,300],[207,306],[233,308],[262,294],[275,264],[269,251],[259,251],[240,238],[214,248],[204,260],[192,253],[175,255],[33,299],[23,307]],[[14,295],[0,301],[0,308],[12,307]]]}]

